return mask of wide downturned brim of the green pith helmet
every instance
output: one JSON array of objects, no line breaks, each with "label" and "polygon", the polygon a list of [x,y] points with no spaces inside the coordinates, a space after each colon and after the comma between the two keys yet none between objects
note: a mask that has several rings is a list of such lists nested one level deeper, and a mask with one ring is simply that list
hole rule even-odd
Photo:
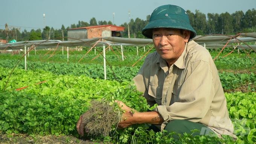
[{"label": "wide downturned brim of the green pith helmet", "polygon": [[190,26],[187,21],[175,19],[175,18],[160,18],[155,19],[152,21],[149,21],[149,23],[142,29],[142,35],[146,36],[147,38],[151,38],[153,36],[152,29],[157,28],[173,28],[173,29],[184,29],[190,31],[190,38],[195,38],[197,36],[197,33],[193,29],[192,26]]}]

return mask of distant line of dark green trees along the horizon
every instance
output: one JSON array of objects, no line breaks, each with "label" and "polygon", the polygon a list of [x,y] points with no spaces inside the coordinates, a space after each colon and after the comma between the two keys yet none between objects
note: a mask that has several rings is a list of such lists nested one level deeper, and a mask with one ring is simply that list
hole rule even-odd
[{"label": "distant line of dark green trees along the horizon", "polygon": [[[256,32],[256,10],[249,9],[247,12],[236,11],[233,14],[228,12],[222,14],[207,14],[201,13],[199,10],[195,10],[195,13],[187,10],[189,15],[189,20],[191,26],[196,30],[198,35],[209,35],[209,34],[224,34],[224,35],[234,35],[241,32]],[[141,20],[136,18],[135,20],[131,19],[129,23],[123,23],[120,26],[125,27],[123,32],[123,37],[128,38],[128,25],[130,29],[130,38],[145,38],[141,30],[149,22],[150,15],[146,16],[146,20]],[[16,39],[16,41],[28,41],[28,40],[42,40],[42,39],[52,39],[58,38],[62,40],[62,33],[64,37],[67,37],[67,29],[73,29],[78,27],[87,27],[87,26],[97,26],[97,25],[107,25],[112,24],[111,21],[96,21],[96,18],[91,18],[90,22],[78,21],[78,24],[71,24],[68,27],[64,27],[62,24],[61,29],[54,29],[46,26],[43,31],[41,29],[27,32],[25,29],[23,32],[20,32],[16,29],[15,35],[8,35],[9,41]],[[12,29],[15,30],[15,29]],[[5,32],[0,29],[0,39],[6,39]],[[65,41],[67,38],[64,39]]]}]

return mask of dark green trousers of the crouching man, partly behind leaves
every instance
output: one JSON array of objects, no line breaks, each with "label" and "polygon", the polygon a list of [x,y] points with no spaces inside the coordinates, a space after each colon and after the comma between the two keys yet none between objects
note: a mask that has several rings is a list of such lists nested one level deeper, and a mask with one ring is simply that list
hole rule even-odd
[{"label": "dark green trousers of the crouching man, partly behind leaves", "polygon": [[[160,130],[154,126],[153,124],[149,127],[149,130],[152,129],[155,132],[159,132]],[[191,130],[198,129],[201,132],[195,132],[192,134],[192,136],[195,135],[211,135],[211,133],[214,133],[213,130],[211,130],[209,127],[201,124],[201,123],[194,123],[187,120],[172,120],[170,121],[166,126],[165,130],[167,130],[167,134],[170,132],[176,132],[177,134],[180,133],[181,136],[183,136],[183,133],[192,133]],[[175,134],[172,135],[172,138],[174,139],[180,139],[180,137]]]}]

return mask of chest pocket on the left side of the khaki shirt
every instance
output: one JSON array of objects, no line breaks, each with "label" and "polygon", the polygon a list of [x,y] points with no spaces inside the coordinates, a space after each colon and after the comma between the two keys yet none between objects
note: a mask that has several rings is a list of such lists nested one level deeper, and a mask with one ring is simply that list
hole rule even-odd
[{"label": "chest pocket on the left side of the khaki shirt", "polygon": [[157,105],[161,105],[163,86],[149,83],[148,94],[154,97]]}]

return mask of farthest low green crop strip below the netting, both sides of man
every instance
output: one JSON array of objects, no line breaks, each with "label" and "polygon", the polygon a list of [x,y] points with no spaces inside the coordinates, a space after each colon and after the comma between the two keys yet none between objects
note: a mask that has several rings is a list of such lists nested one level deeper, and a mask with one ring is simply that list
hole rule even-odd
[{"label": "farthest low green crop strip below the netting, both sides of man", "polygon": [[[30,55],[28,58],[30,61],[40,61],[40,62],[64,62],[67,63],[67,55],[54,55],[50,57],[51,55]],[[78,63],[78,61],[83,57],[84,55],[70,55],[69,56],[69,62]],[[238,57],[239,55],[229,55],[227,57],[222,58],[219,56],[215,60],[215,65],[218,70],[250,70],[253,71],[255,69],[256,65],[256,58],[255,56],[251,58],[249,57]],[[100,55],[97,58],[95,58],[96,55],[94,54],[88,54],[85,55],[84,58],[79,63],[94,63],[94,64],[103,64],[103,57]],[[142,55],[125,55],[124,61],[122,61],[122,56],[119,54],[118,57],[116,55],[106,55],[107,61],[110,63],[111,66],[131,66],[135,64]],[[212,56],[214,59],[216,56]],[[20,60],[22,58],[21,55],[1,55],[1,59],[16,59]],[[94,59],[95,58],[95,59]],[[24,59],[24,58],[23,58]],[[93,61],[91,61],[93,59]],[[27,61],[29,61],[27,59]],[[139,62],[136,63],[136,66],[141,66],[143,62],[145,61],[145,57],[143,57]]]}]

